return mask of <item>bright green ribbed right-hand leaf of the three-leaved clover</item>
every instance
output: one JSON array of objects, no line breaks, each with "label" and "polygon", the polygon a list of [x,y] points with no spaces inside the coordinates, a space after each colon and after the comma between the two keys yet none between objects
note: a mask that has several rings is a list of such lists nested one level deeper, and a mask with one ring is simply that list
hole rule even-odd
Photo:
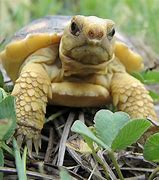
[{"label": "bright green ribbed right-hand leaf of the three-leaved clover", "polygon": [[112,149],[114,151],[125,149],[135,143],[150,126],[151,123],[144,119],[130,120],[120,129],[112,143]]}]

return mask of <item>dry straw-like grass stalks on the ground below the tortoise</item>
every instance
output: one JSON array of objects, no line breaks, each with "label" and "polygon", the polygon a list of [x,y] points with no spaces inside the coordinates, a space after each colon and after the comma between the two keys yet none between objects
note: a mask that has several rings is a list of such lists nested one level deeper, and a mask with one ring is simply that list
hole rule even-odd
[{"label": "dry straw-like grass stalks on the ground below the tortoise", "polygon": [[[42,148],[39,154],[37,155],[33,150],[33,159],[29,159],[29,157],[27,159],[28,178],[59,179],[58,167],[64,166],[75,179],[104,180],[103,170],[91,154],[80,153],[66,146],[66,143],[72,142],[77,148],[81,139],[80,136],[70,131],[73,121],[80,119],[90,125],[97,109],[70,110],[65,108],[65,111],[63,111],[63,107],[54,108],[49,106],[48,113],[49,111],[52,113],[52,109],[56,113],[62,114],[55,119],[49,118],[49,122],[45,124],[42,131]],[[116,154],[125,179],[146,179],[157,167],[157,164],[144,160],[142,153],[140,153],[142,149],[142,145],[134,144],[125,151]],[[116,171],[107,153],[99,150],[98,155],[107,166],[111,178],[113,180],[117,179]],[[5,154],[5,167],[3,168],[5,179],[16,179],[14,159],[8,154]]]}]

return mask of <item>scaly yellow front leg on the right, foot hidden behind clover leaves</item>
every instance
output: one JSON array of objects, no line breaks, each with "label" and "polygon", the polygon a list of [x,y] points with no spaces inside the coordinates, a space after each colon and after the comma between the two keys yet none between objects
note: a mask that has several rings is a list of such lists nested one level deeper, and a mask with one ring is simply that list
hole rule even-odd
[{"label": "scaly yellow front leg on the right, foot hidden behind clover leaves", "polygon": [[157,120],[153,100],[144,85],[127,73],[115,73],[111,83],[113,104],[131,118]]}]

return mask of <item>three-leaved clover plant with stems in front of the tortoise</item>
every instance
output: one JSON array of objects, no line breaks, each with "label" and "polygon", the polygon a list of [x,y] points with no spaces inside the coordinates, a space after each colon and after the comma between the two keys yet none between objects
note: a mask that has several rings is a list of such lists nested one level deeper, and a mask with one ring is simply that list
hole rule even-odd
[{"label": "three-leaved clover plant with stems in front of the tortoise", "polygon": [[74,122],[71,130],[83,136],[84,140],[92,150],[94,158],[99,162],[109,179],[105,164],[100,159],[94,148],[96,143],[100,148],[107,151],[112,160],[118,176],[124,179],[114,152],[125,149],[132,143],[135,143],[141,135],[151,126],[151,123],[144,119],[132,120],[124,112],[112,113],[109,110],[100,110],[94,117],[94,130],[91,131],[82,121]]}]

